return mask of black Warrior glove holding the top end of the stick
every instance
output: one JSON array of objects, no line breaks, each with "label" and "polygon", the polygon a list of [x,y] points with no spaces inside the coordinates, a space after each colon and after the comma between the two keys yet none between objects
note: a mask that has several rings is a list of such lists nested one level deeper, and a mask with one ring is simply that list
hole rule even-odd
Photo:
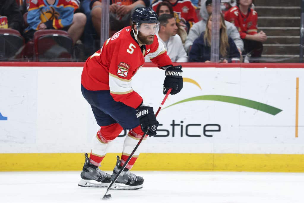
[{"label": "black Warrior glove holding the top end of the stick", "polygon": [[183,71],[181,65],[171,66],[165,71],[164,94],[167,94],[168,89],[172,88],[170,94],[177,94],[183,89]]}]

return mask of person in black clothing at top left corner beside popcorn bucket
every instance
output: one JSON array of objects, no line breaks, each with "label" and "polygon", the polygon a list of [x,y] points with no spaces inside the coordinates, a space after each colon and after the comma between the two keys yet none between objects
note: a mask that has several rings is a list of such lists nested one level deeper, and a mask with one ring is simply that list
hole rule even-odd
[{"label": "person in black clothing at top left corner beside popcorn bucket", "polygon": [[0,1],[0,16],[7,17],[8,28],[22,30],[22,15],[16,0],[2,0]]}]

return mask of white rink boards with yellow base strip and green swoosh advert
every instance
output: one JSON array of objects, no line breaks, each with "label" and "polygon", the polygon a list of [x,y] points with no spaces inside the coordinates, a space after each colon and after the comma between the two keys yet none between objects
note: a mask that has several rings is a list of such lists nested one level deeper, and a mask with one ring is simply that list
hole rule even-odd
[{"label": "white rink boards with yellow base strip and green swoosh advert", "polygon": [[[98,130],[81,95],[82,68],[0,68],[0,171],[79,170]],[[182,92],[168,97],[158,134],[133,169],[304,172],[303,76],[292,65],[188,65]],[[133,77],[133,89],[155,111],[163,79],[163,71],[148,67]],[[105,170],[124,136],[109,146]]]}]

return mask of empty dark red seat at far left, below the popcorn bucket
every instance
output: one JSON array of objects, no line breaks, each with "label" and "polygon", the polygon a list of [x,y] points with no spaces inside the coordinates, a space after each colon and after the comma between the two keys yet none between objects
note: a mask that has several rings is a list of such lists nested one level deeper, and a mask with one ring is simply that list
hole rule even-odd
[{"label": "empty dark red seat at far left, below the popcorn bucket", "polygon": [[18,30],[0,29],[0,60],[19,61],[24,45],[24,38]]}]

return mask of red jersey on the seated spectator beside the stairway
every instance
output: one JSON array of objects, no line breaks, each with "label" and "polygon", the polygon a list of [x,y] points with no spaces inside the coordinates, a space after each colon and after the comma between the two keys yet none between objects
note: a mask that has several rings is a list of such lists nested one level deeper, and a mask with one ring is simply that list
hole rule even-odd
[{"label": "red jersey on the seated spectator beside the stairway", "polygon": [[247,15],[245,15],[238,6],[234,6],[225,13],[225,20],[237,27],[242,39],[247,34],[254,35],[257,33],[257,12],[253,9],[249,9]]}]

